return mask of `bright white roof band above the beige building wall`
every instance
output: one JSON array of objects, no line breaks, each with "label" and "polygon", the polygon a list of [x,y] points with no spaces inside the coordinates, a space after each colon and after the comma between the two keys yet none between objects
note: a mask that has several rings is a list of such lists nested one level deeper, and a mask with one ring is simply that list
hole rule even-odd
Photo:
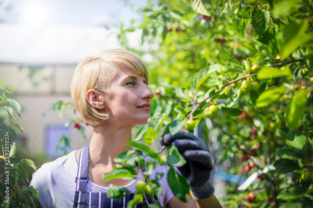
[{"label": "bright white roof band above the beige building wall", "polygon": [[105,27],[0,24],[0,63],[73,65],[86,56],[119,48],[119,31]]}]

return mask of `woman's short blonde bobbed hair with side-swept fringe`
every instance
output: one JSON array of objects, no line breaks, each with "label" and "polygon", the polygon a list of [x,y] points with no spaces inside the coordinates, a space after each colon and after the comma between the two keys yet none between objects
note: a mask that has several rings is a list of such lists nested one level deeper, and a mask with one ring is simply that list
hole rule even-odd
[{"label": "woman's short blonde bobbed hair with side-swept fringe", "polygon": [[76,110],[91,126],[97,126],[109,118],[90,105],[86,98],[89,89],[109,92],[110,82],[118,70],[129,69],[148,82],[148,70],[140,58],[129,51],[108,50],[81,60],[73,71],[70,94]]}]

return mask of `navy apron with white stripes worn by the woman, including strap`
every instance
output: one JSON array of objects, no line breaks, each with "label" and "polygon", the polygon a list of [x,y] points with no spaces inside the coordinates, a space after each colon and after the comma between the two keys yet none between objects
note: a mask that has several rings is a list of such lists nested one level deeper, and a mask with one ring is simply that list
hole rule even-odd
[{"label": "navy apron with white stripes worn by the woman, including strap", "polygon": [[[88,153],[89,153],[89,143],[80,152],[77,177],[76,191],[74,197],[74,208],[95,208],[95,207],[111,207],[111,208],[126,208],[127,203],[133,198],[135,193],[126,194],[124,192],[123,199],[113,199],[106,196],[106,192],[87,192],[88,183]],[[147,196],[147,197],[146,197]],[[152,195],[152,198],[158,202],[156,196]],[[144,208],[153,204],[149,195],[144,194],[144,199],[142,203],[137,204],[136,208]]]}]

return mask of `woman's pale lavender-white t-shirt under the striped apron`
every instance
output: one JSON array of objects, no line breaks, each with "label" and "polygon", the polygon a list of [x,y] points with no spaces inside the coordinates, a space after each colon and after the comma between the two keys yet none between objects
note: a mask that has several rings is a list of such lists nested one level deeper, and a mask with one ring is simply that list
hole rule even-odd
[{"label": "woman's pale lavender-white t-shirt under the striped apron", "polygon": [[[42,207],[73,207],[74,195],[76,191],[75,177],[77,176],[78,163],[76,160],[76,151],[70,152],[64,157],[60,157],[53,162],[44,163],[36,172],[33,173],[33,179],[30,186],[38,189],[39,202]],[[168,166],[157,166],[150,175],[155,179],[157,173],[163,172],[164,168],[169,170]],[[167,183],[167,172],[158,180],[162,186],[162,196],[158,196],[161,206],[174,196],[171,188]],[[131,181],[125,187],[127,190],[134,192],[136,190],[136,183],[142,180],[141,174],[134,181]],[[91,181],[87,183],[87,192],[107,192],[109,188],[99,186]]]}]

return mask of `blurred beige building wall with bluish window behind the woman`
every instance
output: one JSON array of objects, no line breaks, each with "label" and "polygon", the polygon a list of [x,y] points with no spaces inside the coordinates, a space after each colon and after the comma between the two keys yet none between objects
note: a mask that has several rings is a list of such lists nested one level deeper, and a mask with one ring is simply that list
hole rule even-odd
[{"label": "blurred beige building wall with bluish window behind the woman", "polygon": [[[69,126],[64,127],[64,123],[69,122],[69,119],[81,118],[79,114],[74,114],[69,108],[65,110],[62,118],[59,117],[59,111],[53,111],[52,105],[58,100],[72,102],[69,94],[70,80],[73,67],[63,66],[58,69],[55,66],[44,66],[42,69],[20,65],[0,65],[0,79],[4,81],[4,85],[9,85],[14,88],[12,99],[15,99],[21,105],[20,119],[15,114],[15,120],[11,121],[18,123],[24,128],[24,135],[19,133],[21,141],[25,143],[25,148],[22,149],[21,157],[36,152],[47,153],[51,159],[60,155],[51,155],[51,149],[55,152],[55,147],[51,145],[59,143],[57,138],[60,133],[68,132],[71,141],[71,149],[82,148],[88,140],[84,139],[77,128]],[[30,79],[29,72],[37,72]],[[86,126],[86,137],[91,138],[93,128]],[[48,141],[49,140],[49,141]],[[50,145],[48,145],[50,144]],[[50,152],[48,154],[48,152]],[[62,153],[62,151],[59,151]]]}]

